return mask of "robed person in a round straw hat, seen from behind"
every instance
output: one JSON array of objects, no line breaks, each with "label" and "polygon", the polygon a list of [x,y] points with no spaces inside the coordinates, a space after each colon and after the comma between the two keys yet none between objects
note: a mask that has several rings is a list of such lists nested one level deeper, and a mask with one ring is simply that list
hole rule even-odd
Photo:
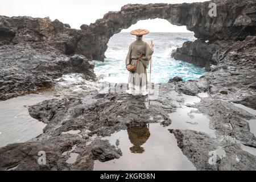
[{"label": "robed person in a round straw hat, seen from behind", "polygon": [[[136,40],[130,44],[129,51],[126,56],[127,65],[135,65],[135,72],[130,72],[128,82],[129,89],[126,90],[128,94],[142,94],[146,96],[147,92],[147,68],[150,63],[151,56],[154,52],[154,44],[149,46],[142,40],[142,36],[148,34],[149,31],[138,29],[131,31],[131,35],[136,35]],[[139,59],[139,60],[138,60]]]}]

